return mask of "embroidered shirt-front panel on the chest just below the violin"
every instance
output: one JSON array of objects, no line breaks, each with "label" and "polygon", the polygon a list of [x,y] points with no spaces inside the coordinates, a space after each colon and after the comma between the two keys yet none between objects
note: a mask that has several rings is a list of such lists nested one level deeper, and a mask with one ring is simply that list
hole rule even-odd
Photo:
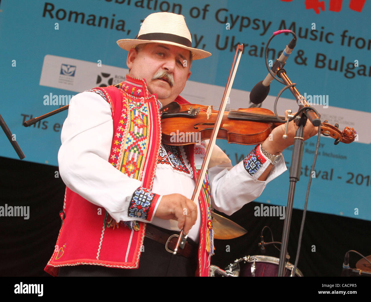
[{"label": "embroidered shirt-front panel on the chest just below the violin", "polygon": [[174,170],[183,172],[193,177],[193,171],[188,163],[187,156],[184,152],[183,146],[161,146],[160,154],[158,156],[158,164],[166,164],[173,167]]}]

